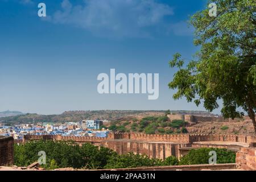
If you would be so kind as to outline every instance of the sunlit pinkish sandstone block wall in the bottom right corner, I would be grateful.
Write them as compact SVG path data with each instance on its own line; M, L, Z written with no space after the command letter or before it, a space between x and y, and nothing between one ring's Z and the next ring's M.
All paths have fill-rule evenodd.
M238 169L256 170L256 148L241 148L236 154Z

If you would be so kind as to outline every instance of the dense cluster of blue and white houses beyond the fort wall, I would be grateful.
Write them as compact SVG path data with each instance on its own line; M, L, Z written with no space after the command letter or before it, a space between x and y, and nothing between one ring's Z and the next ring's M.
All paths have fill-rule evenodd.
M4 126L0 123L0 135L23 139L24 135L63 135L76 137L107 137L109 130L102 128L106 120L82 120L66 123L36 123Z

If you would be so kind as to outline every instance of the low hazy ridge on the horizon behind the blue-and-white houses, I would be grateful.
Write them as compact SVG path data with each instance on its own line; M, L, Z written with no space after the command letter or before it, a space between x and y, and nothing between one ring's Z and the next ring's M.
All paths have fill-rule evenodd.
M82 119L107 119L113 121L118 118L143 118L146 116L163 115L164 110L92 110L92 111L65 111L56 115L23 114L0 118L5 123L32 123L34 122L78 122ZM171 111L174 114L207 114L205 111Z

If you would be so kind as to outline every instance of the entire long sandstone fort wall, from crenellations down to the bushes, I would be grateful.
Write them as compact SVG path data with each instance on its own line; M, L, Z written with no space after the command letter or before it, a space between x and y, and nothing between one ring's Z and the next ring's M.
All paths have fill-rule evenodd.
M82 144L90 142L96 146L111 148L118 154L146 154L150 158L165 159L168 156L181 156L187 154L193 142L222 141L256 143L256 137L246 135L207 135L207 134L173 134L173 135L147 135L143 133L109 133L108 137L63 137L61 135L25 135L24 141L52 139L74 140ZM220 147L220 146L215 146ZM222 146L225 147L225 146ZM180 150L181 149L181 150ZM238 150L240 150L238 148Z

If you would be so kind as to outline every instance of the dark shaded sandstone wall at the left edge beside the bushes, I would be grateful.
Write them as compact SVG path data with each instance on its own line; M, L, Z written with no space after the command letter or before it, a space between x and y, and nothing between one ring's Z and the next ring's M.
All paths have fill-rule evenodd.
M13 137L0 137L0 166L11 166L14 163Z

